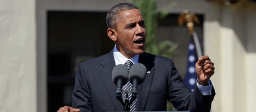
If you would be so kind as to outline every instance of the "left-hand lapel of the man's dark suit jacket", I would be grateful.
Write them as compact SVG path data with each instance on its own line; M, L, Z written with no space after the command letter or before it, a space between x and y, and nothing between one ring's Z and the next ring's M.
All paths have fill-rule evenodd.
M103 69L100 70L100 74L105 85L106 91L108 93L108 96L111 100L111 102L109 103L112 103L114 105L115 111L124 110L123 105L117 100L115 95L117 85L115 85L112 82L112 70L115 66L113 50L107 54L105 59L103 59L103 61L101 62L101 65L103 66Z

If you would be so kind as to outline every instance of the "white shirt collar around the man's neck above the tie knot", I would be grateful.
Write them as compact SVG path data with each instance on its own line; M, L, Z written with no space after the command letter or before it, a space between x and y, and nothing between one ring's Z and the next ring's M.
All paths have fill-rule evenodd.
M139 60L139 54L136 54L134 57L132 57L131 59L126 58L123 54L121 54L117 47L114 47L114 60L115 60L115 65L119 65L119 64L125 64L125 62L127 60L131 60L133 64L137 64L138 60Z

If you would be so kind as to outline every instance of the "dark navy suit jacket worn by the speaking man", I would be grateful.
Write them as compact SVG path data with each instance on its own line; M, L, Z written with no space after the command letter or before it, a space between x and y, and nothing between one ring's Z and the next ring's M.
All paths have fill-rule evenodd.
M179 76L172 60L149 53L139 55L138 63L147 67L144 82L138 86L136 111L166 111L167 100L177 110L210 111L212 95L203 96L197 86L192 92ZM113 50L78 66L72 107L81 111L124 111L112 82L115 66Z

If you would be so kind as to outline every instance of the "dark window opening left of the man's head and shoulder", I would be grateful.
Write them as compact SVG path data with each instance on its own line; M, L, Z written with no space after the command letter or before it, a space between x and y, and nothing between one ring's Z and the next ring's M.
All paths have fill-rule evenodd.
M106 34L106 13L47 12L47 106L71 105L76 66L114 47Z

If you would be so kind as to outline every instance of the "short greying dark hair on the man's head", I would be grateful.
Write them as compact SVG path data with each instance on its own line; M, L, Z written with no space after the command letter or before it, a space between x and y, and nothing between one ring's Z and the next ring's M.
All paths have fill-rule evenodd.
M106 22L107 28L117 28L117 22L119 21L119 13L123 10L138 9L132 3L119 3L114 5L107 13Z

